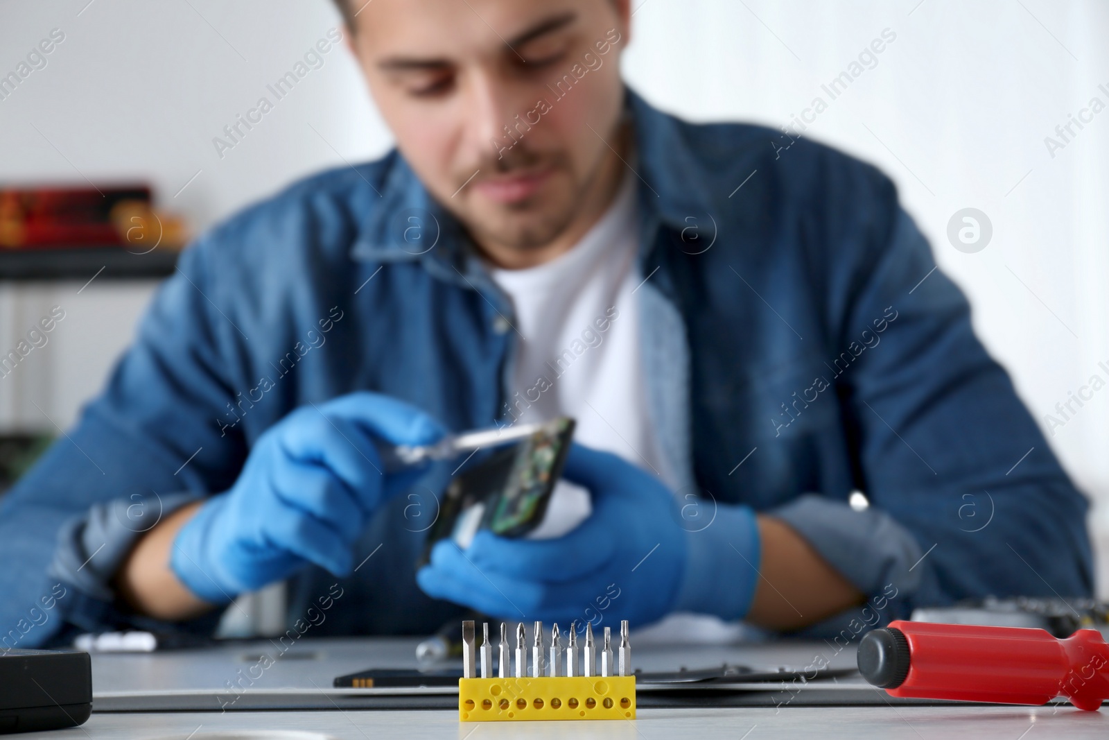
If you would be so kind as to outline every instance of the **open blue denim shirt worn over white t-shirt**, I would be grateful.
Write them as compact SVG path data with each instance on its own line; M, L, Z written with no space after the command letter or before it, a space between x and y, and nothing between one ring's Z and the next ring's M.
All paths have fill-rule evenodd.
M630 91L628 111L649 417L675 495L699 495L706 518L740 503L781 517L875 597L882 621L988 594L1089 595L1087 503L889 180L808 141L782 149L767 129L680 121ZM0 503L4 645L152 625L111 588L134 538L228 488L303 404L374 389L454 429L506 423L506 318L471 242L396 152L212 230L103 394ZM847 506L853 490L868 509ZM435 499L415 496L373 520L355 561L373 557L338 579L314 633L426 633L460 612L416 586L426 519L411 507L430 518ZM298 574L289 621L336 580Z

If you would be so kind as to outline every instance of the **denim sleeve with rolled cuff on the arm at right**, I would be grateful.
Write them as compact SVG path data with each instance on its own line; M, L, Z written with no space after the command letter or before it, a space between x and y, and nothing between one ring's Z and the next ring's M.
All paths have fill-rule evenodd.
M865 594L896 591L891 618L988 595L1089 596L1088 504L888 191L872 219L884 233L831 255L849 266L826 283L826 314L842 318L828 333L849 353L835 392L871 508L804 497L780 516Z

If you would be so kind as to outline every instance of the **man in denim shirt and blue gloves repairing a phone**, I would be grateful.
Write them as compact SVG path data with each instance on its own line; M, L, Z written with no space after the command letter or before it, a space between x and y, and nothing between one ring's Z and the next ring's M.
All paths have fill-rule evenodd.
M1089 595L1086 503L886 178L652 109L619 74L627 0L343 10L397 151L182 255L3 501L2 626L41 625L21 647L210 630L283 579L291 622L342 594L321 635ZM581 445L556 536L417 571L452 466L380 447L557 414Z

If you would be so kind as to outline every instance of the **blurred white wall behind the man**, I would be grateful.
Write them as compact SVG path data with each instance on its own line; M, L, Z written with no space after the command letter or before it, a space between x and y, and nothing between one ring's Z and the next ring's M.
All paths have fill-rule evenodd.
M203 227L299 175L389 145L343 49L222 159L212 145L266 83L338 24L325 0L87 2L0 0L0 73L51 29L65 33L48 67L0 101L0 181L143 178L165 205ZM828 101L821 84L889 29L896 40L877 65L828 101L805 135L875 162L897 181L939 265L970 296L979 334L1041 423L1090 375L1109 379L1098 367L1109 365L1109 110L1054 158L1044 142L1091 98L1109 104L1109 3L633 4L627 79L657 104L696 120L788 123L814 97ZM994 229L974 254L945 235L950 216L968 206L984 211ZM78 304L84 317L65 326L74 336L60 334L44 348L51 367L27 393L43 401L61 394L50 408L55 419L72 419L130 336L149 290L93 283ZM31 298L14 295L0 287L4 343L38 310L17 308ZM13 416L18 408L26 404L0 383L0 424L29 418ZM1099 503L1109 503L1107 440L1109 389L1050 437ZM1093 525L1109 531L1109 515L1099 511Z

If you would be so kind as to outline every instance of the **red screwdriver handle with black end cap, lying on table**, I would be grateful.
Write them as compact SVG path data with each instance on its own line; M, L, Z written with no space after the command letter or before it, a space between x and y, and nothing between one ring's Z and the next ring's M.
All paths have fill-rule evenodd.
M1109 645L1080 629L1065 640L1042 629L893 621L858 646L858 669L894 697L1046 704L1079 709L1109 699Z

